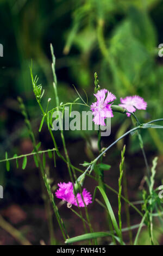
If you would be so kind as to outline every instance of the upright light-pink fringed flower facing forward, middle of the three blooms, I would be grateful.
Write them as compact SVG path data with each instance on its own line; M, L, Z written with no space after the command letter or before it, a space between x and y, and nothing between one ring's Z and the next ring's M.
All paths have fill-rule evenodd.
M106 89L99 90L94 95L97 101L92 103L91 105L91 111L92 111L92 114L94 115L93 121L97 125L105 126L104 119L107 117L114 117L111 110L112 103L111 104L108 104L108 103L111 101L114 101L116 99L116 96L110 93Z

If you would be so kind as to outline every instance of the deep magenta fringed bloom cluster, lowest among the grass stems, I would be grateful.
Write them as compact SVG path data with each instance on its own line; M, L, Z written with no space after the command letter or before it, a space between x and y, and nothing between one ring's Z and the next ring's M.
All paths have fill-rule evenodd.
M79 203L80 207L84 207L84 202L85 202L85 205L92 203L92 196L90 192L87 192L85 188L83 189L83 192L82 192L82 195L84 198L84 202L83 202L83 199L80 193L77 193L76 197L74 196L72 182L68 182L68 183L60 182L58 186L59 186L59 189L55 192L55 196L57 198L60 198L66 201L67 203L73 204L76 206L78 206L78 203ZM77 199L78 199L78 203L77 203Z

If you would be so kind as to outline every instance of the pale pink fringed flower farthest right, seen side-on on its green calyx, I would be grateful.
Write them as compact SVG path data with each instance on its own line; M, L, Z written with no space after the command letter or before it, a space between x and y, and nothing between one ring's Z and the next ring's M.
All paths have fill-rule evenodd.
M126 108L129 112L133 113L137 109L146 109L147 102L143 100L140 96L127 96L124 99L120 99L122 104L119 104L121 107ZM130 117L130 113L126 113Z

